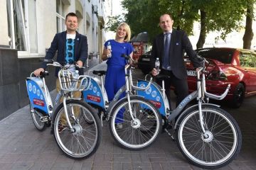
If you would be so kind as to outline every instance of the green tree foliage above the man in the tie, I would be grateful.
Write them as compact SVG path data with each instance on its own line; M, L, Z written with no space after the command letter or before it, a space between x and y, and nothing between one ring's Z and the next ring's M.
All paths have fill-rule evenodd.
M164 13L173 16L174 28L185 30L188 35L193 35L193 23L198 21L201 34L197 47L203 47L210 31L219 31L225 40L228 33L242 27L247 1L254 4L255 0L123 0L122 7L128 11L124 21L132 35L147 32L150 40L161 33L159 16Z

